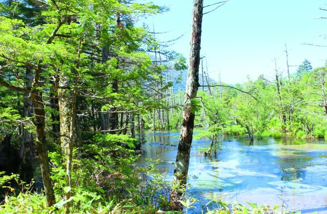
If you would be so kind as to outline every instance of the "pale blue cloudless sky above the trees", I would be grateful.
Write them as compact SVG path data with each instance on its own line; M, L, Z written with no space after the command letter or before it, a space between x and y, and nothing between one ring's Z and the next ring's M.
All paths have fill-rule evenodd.
M138 2L147 2L139 0ZM167 6L169 12L142 20L154 25L159 41L183 35L169 48L189 58L192 0L152 0ZM205 5L219 1L204 0ZM215 7L205 8L204 12ZM308 59L313 67L327 59L327 0L229 0L214 12L205 14L202 23L201 55L206 57L209 76L227 84L243 83L264 74L272 77L274 59L277 68L287 75L285 44L290 71Z

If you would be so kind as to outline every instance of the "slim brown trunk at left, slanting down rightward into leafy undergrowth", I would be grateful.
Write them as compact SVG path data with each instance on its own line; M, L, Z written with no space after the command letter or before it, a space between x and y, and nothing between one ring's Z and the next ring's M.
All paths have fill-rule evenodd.
M35 120L33 121L36 126L36 148L38 151L41 174L43 178L44 192L48 206L52 206L56 203L55 195L52 188L50 178L50 168L48 159L48 150L46 149L45 141L45 111L43 104L42 92L38 90L31 91L31 100L34 105Z

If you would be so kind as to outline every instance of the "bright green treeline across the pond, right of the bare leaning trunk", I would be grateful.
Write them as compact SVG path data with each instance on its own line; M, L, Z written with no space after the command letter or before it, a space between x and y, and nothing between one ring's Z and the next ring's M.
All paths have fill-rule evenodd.
M250 140L327 138L327 65L313 69L305 60L295 73L284 75L275 65L270 77L261 75L244 84L220 84L199 91L200 117L195 125L207 127L214 136L229 133L247 135Z

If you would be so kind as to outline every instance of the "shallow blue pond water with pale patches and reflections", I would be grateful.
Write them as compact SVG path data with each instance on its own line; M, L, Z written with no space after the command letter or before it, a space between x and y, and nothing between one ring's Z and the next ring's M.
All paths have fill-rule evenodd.
M196 134L196 132L195 132ZM179 131L146 132L139 166L146 158L160 159L157 165L171 179ZM200 156L198 149L209 140L192 143L189 193L201 199L214 194L227 201L258 205L279 205L288 211L327 213L327 144L324 141L263 139L250 143L245 138L224 136L221 151L212 157ZM197 202L196 212L208 200ZM249 205L248 205L249 207ZM206 210L206 209L205 209Z

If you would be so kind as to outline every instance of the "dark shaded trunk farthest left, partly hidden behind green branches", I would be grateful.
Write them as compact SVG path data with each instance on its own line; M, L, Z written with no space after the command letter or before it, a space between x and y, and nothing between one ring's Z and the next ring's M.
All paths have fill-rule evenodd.
M30 68L26 68L26 88L31 90L32 83L34 79L33 71ZM33 102L29 98L30 93L24 92L23 98L23 116L24 117L32 117L33 113ZM21 138L21 149L20 149L20 176L26 181L30 182L33 178L33 133L30 132L29 128L22 127L22 138Z

